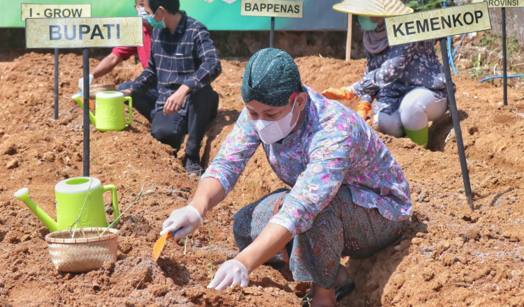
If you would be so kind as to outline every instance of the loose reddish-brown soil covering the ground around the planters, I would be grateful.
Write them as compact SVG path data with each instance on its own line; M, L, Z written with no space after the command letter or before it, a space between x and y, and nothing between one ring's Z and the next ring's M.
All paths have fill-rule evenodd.
M287 283L270 267L256 269L243 290L206 289L210 243L216 271L238 253L231 216L284 186L261 149L233 193L189 237L187 254L183 241L169 240L159 262L152 262L161 223L186 204L196 181L187 177L168 146L154 140L138 112L122 132L91 130L91 174L117 186L121 209L133 202L141 186L151 189L118 226L118 261L86 274L57 272L44 241L48 230L13 193L28 187L30 197L54 218L54 184L82 175L82 112L70 98L77 91L82 59L60 56L60 117L54 121L52 55L11 56L0 56L0 306L299 306L305 287ZM91 68L96 63L92 59ZM303 82L316 90L351 84L365 69L363 60L305 57L297 63ZM205 163L242 109L244 65L222 61L223 73L213 84L221 104L203 144ZM126 61L101 83L132 80L140 70ZM509 89L509 106L504 107L502 89L470 78L455 82L475 210L463 193L455 137L446 142L453 127L447 114L430 128L431 150L383 135L409 179L414 213L397 246L365 260L342 260L356 291L339 306L523 303L523 95ZM356 101L342 103L354 107ZM109 207L110 197L105 197Z

